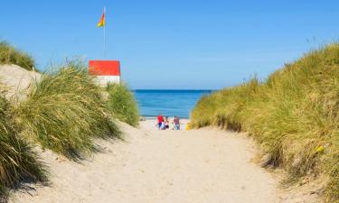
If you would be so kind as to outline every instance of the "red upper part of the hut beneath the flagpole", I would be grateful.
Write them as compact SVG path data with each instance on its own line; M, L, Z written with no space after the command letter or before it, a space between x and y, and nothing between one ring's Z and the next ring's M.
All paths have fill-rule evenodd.
M120 76L120 61L89 60L89 74L94 76Z

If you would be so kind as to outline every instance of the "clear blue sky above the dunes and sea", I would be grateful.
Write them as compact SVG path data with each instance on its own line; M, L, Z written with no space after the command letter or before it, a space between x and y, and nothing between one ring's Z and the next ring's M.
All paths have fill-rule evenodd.
M339 1L2 1L0 39L45 69L66 57L121 60L131 88L222 88L339 34Z

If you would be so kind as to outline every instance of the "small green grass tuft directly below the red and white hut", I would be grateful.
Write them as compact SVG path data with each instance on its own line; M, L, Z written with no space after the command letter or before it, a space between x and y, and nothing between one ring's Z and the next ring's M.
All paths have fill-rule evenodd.
M126 85L108 84L108 109L120 121L137 126L139 114L133 93Z

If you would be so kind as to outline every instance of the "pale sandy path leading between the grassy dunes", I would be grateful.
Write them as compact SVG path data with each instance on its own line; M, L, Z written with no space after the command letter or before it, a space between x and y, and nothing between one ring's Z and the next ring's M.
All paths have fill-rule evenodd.
M250 160L253 143L218 130L157 131L122 125L127 142L99 142L105 152L81 164L42 158L50 187L15 192L15 202L278 202L278 183Z

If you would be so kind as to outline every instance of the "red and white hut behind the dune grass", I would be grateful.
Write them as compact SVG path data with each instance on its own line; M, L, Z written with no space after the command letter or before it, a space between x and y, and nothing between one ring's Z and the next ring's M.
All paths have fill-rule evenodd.
M89 60L89 74L98 78L99 85L120 83L120 61L118 60Z

